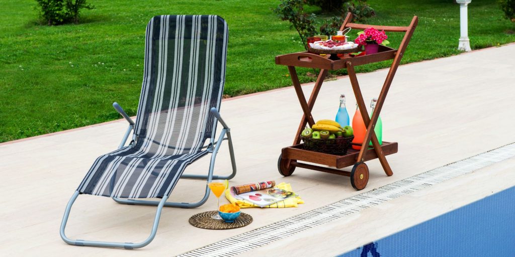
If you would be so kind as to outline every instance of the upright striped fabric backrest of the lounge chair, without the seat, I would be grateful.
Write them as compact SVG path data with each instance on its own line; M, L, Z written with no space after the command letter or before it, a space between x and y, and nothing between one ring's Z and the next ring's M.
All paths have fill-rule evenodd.
M227 23L216 15L161 15L147 25L134 133L139 156L200 151L214 137L225 83Z

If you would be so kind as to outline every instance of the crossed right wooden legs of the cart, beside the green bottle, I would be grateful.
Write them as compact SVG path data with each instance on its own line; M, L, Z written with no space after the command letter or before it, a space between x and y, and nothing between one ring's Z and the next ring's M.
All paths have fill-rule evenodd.
M390 164L388 164L388 161L386 160L386 157L383 153L383 150L381 148L381 145L379 144L379 141L377 140L377 137L374 132L375 123L377 122L376 119L370 120L368 116L367 107L365 105L365 101L363 100L363 95L361 93L361 89L359 88L359 83L356 78L356 72L354 70L354 66L351 62L347 62L347 71L349 72L349 79L352 84L352 89L354 91L354 95L356 96L356 102L359 107L359 111L361 112L361 115L363 117L363 121L365 123L365 126L367 126L367 133L365 134L365 138L363 140L363 144L361 146L361 150L359 151L359 155L357 157L357 162L363 162L364 157L366 156L369 142L372 140L372 146L374 148L375 154L377 155L377 158L379 158L379 161L381 162L381 166L383 166L383 170L385 171L387 176L393 175L393 172L390 168ZM390 82L391 83L391 82ZM389 86L388 86L389 87ZM383 90L381 90L381 94L379 95L382 101L384 101L384 98L386 97L386 92L384 90L385 86L383 86ZM377 100L379 102L379 100ZM374 109L373 116L379 117L379 113L381 112L381 109L376 108ZM373 117L372 117L373 118Z

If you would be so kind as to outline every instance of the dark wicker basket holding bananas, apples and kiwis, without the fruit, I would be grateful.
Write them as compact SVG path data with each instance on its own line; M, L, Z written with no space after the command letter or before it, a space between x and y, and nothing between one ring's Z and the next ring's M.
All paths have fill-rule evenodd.
M334 139L315 139L300 136L300 139L304 142L304 150L345 155L354 136Z

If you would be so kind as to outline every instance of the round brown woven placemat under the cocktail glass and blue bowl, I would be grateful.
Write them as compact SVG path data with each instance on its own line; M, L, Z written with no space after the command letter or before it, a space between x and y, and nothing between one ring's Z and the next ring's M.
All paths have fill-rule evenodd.
M215 213L216 211L197 213L190 217L190 224L197 228L205 229L231 229L245 227L252 222L252 216L243 212L239 214L239 217L233 223L227 223L223 219L211 218L211 215Z

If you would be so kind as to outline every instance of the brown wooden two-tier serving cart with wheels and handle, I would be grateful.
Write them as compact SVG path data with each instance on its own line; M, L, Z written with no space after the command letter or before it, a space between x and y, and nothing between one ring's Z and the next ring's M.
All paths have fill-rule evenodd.
M395 72L399 67L404 51L406 50L409 40L411 39L411 35L413 35L413 32L415 31L415 28L418 23L418 17L414 16L413 20L411 20L411 23L407 27L376 26L349 23L351 17L352 14L349 13L344 23L341 25L340 30L344 30L345 28L366 29L369 27L373 27L378 30L385 30L390 32L404 32L404 38L402 39L399 49L393 49L390 47L380 45L379 51L377 53L341 59L336 58L336 54L334 54L334 56L331 56L330 58L327 58L307 51L277 56L276 64L288 66L289 74L291 80L293 81L297 97L299 98L300 106L302 107L302 111L304 112L293 145L282 149L281 155L279 156L278 169L279 173L281 173L283 176L291 175L296 167L348 176L351 179L352 187L356 190L362 190L367 186L368 183L369 171L367 164L365 164L365 161L367 160L379 158L386 175L393 175L393 172L385 156L397 153L397 142L383 141L383 143L380 145L379 141L377 141L375 133L372 132L374 131L377 118L381 113L381 108L383 107L386 94L388 93L388 89L390 88L391 82L393 80L393 76L395 75ZM383 84L383 88L381 89L381 93L377 98L377 103L375 105L374 112L372 113L372 116L369 118L369 114L365 106L365 102L363 100L363 95L361 93L361 89L359 88L359 84L356 78L354 66L381 62L390 59L393 59L393 63L390 66L390 70L388 71L388 75L386 76L386 80ZM295 67L320 69L320 73L318 75L317 81L308 101L306 101L306 98L302 92L302 88L300 86L299 78L297 77L297 71ZM328 70L337 70L345 68L348 71L349 79L352 84L352 89L354 91L354 95L356 96L357 105L359 107L359 110L361 111L361 115L363 116L365 126L367 127L367 132L365 134L363 144L361 144L361 150L354 150L350 148L346 155L333 155L304 150L303 145L300 143L300 135L302 133L302 130L306 126L306 123L310 124L310 126L313 126L313 124L315 124L311 111L317 99L323 80L325 76L328 74ZM373 147L369 149L370 140L372 141ZM317 166L306 162L335 167L336 169ZM338 170L349 166L353 166L351 172Z

